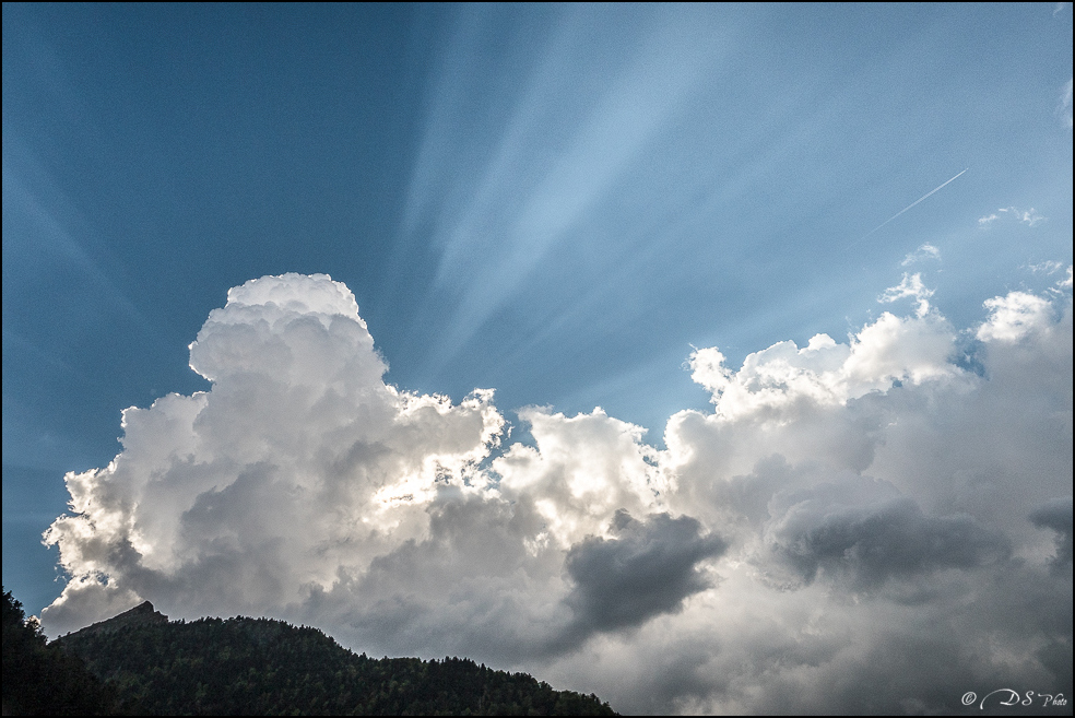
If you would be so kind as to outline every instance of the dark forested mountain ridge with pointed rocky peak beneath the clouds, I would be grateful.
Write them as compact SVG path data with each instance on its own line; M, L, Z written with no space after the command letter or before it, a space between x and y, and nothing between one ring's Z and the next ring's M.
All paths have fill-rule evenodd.
M4 711L52 713L9 702L8 597ZM21 608L17 623L26 626ZM149 602L39 644L96 681L104 692L97 713L616 715L593 694L555 691L525 673L469 659L374 659L314 627L248 617L169 622Z

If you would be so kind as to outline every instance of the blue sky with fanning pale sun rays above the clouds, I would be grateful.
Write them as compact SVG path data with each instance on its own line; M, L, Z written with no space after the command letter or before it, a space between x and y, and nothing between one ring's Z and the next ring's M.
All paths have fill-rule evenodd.
M601 407L664 450L696 349L847 342L905 273L972 334L1072 262L1071 78L1070 4L5 3L4 586L59 596L63 474L209 389L188 345L263 275L530 444Z

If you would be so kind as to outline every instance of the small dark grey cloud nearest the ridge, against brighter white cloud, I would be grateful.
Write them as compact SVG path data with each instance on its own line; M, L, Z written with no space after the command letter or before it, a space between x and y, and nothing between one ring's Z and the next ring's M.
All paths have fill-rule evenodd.
M651 514L645 520L616 511L615 539L590 537L571 546L565 567L575 588L565 602L575 611L572 631L637 626L680 609L710 582L696 566L724 553L728 544L704 533L689 516Z

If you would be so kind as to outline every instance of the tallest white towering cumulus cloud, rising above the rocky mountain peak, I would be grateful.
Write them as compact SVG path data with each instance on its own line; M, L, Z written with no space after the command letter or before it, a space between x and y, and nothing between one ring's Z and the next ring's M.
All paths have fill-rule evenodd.
M58 626L135 595L193 613L302 602L425 537L437 486L477 492L504 424L491 392L452 407L387 386L354 296L326 275L233 289L190 365L211 391L128 409L116 460L68 476L78 516L49 531L74 577Z

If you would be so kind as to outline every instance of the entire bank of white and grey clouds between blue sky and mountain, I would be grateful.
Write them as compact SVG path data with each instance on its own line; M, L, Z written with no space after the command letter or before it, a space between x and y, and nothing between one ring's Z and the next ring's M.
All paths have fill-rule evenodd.
M957 330L921 276L846 343L690 357L711 411L665 446L600 409L385 384L351 292L228 293L212 382L123 413L46 534L61 633L151 599L267 614L371 654L466 655L624 711L950 713L1072 693L1072 299L987 298Z

